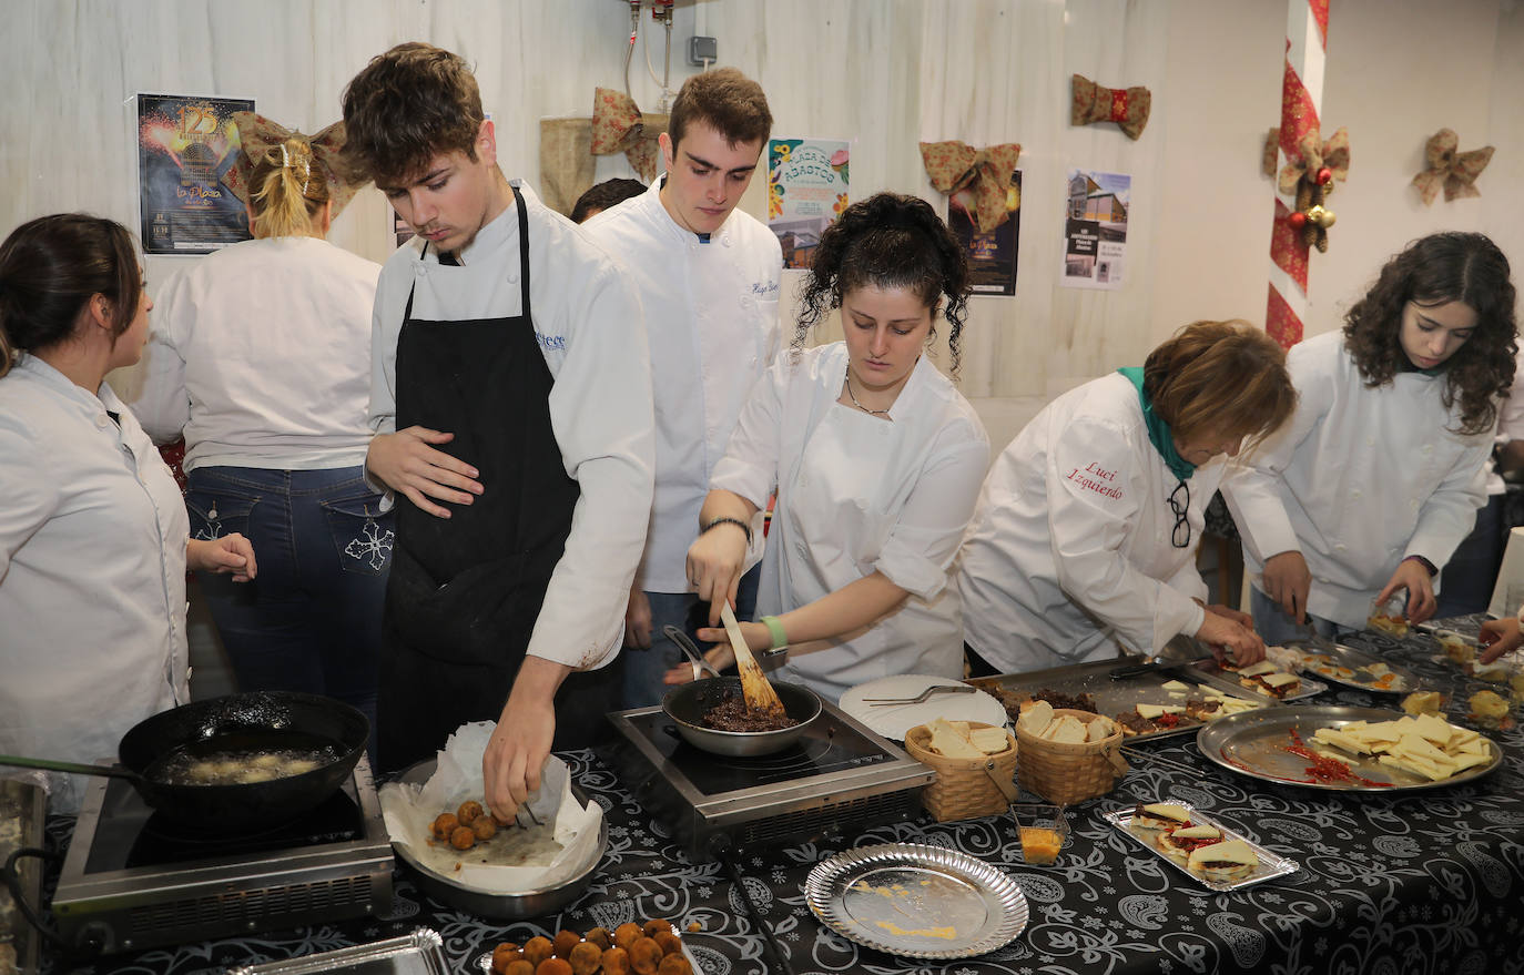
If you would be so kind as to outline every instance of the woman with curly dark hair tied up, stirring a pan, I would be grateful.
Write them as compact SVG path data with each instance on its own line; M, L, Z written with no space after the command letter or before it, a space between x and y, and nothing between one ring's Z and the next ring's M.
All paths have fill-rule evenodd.
M710 477L689 577L712 600L713 628L762 555L762 622L741 631L754 651L788 646L785 676L832 699L892 673L962 676L948 567L989 440L925 352L940 315L957 372L963 250L924 200L878 193L821 235L802 300L792 352L757 382ZM805 349L834 309L844 341ZM712 663L730 660L728 646L710 651ZM668 682L690 676L680 667Z

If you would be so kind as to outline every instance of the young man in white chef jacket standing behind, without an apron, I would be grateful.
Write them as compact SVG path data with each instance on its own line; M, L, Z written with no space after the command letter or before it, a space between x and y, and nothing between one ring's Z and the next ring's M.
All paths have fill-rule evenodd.
M735 69L689 78L661 134L666 174L587 230L636 279L651 338L655 501L625 631L625 707L658 704L681 654L661 634L693 634L684 571L709 475L753 384L777 355L777 236L736 209L773 128L762 87ZM741 615L756 577L738 597Z

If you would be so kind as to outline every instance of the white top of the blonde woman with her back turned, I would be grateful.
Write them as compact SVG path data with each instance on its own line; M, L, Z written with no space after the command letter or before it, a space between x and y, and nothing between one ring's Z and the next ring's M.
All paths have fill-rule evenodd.
M379 274L305 236L201 257L154 302L139 422L160 443L184 433L186 471L360 466Z

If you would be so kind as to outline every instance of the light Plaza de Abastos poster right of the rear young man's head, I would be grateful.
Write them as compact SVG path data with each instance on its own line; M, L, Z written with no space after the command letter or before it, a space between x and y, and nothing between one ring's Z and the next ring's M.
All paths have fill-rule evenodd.
M808 268L820 235L847 209L847 142L770 139L767 222L783 247L785 268Z

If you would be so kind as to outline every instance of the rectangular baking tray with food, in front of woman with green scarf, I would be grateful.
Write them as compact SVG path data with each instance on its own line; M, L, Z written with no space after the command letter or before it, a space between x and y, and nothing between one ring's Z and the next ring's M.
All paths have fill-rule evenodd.
M1268 698L1251 699L1215 681L1195 679L1183 664L1138 664L1137 660L1096 660L1027 673L972 678L968 682L994 695L1012 724L1021 705L1047 701L1055 708L1094 711L1122 725L1129 743L1195 734L1222 714L1279 707Z

